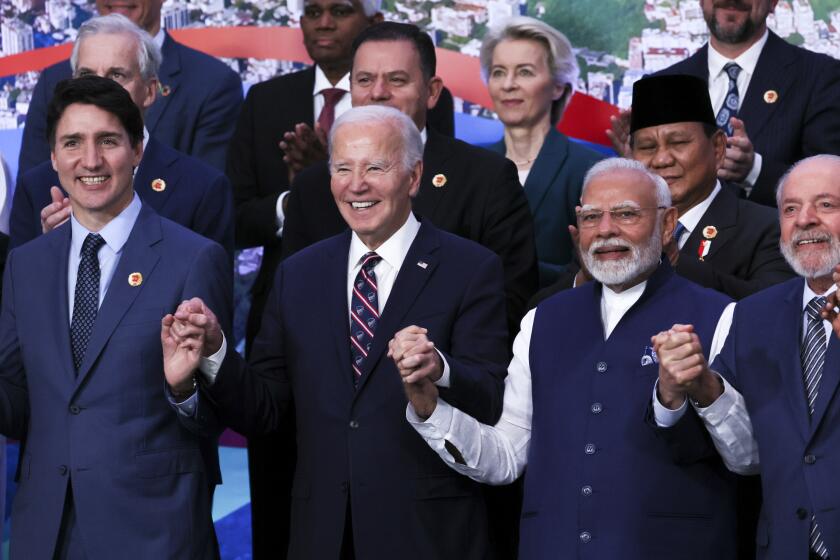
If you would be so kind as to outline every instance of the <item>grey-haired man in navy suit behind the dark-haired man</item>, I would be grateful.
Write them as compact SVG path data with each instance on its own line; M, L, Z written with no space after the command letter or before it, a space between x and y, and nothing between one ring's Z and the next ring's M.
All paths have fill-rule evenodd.
M111 78L128 90L142 113L154 106L160 49L148 33L121 15L86 21L71 57L75 76ZM221 244L233 253L230 182L220 171L149 137L134 188L158 214ZM17 247L69 217L69 199L51 162L19 176L10 218L11 246Z

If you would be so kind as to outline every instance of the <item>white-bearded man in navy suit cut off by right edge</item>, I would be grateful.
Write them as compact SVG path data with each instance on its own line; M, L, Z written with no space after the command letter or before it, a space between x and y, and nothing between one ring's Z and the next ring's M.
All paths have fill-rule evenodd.
M780 246L801 278L739 301L726 321L731 326L720 329L728 337L711 368L703 355L708 346L691 325L674 325L654 338L657 423L668 425L694 408L714 448L704 443L706 430L682 431L686 450L714 454L716 448L731 470L761 474L756 540L762 560L840 554L838 176L840 157L819 155L782 178ZM672 412L663 414L663 406Z

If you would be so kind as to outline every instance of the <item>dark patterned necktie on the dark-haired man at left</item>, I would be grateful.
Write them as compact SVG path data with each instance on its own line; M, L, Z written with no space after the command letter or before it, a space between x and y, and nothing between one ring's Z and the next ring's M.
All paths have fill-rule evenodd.
M89 233L82 243L82 258L76 276L76 295L73 299L73 319L70 321L70 343L73 346L73 366L76 371L85 357L93 323L99 310L99 248L105 240L98 233Z

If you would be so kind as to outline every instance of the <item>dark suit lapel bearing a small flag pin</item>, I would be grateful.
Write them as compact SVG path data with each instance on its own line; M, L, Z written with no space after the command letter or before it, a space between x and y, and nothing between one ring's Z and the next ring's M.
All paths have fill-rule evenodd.
M385 309L382 310L379 325L376 327L373 346L370 347L370 352L368 352L367 358L365 358L362 378L359 381L359 388L356 391L357 395L361 393L368 379L376 371L376 365L385 354L388 342L397 332L397 329L400 328L405 314L411 309L411 306L414 304L417 296L420 295L426 282L434 274L438 264L435 252L439 245L440 240L438 239L437 231L431 229L427 224L421 223L417 237L411 244L408 254L406 254L405 260L400 268L400 272L397 274L397 279L394 281L394 287L391 289L388 303L385 305ZM420 264L421 262L425 266L422 266ZM347 355L348 361L346 363L349 368L349 350Z

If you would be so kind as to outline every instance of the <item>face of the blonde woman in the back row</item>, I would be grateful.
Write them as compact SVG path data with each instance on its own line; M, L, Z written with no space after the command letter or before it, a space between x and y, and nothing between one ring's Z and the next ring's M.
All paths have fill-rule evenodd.
M548 50L530 39L505 39L496 45L487 89L507 127L550 124L551 105L564 91L554 83Z

